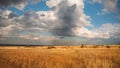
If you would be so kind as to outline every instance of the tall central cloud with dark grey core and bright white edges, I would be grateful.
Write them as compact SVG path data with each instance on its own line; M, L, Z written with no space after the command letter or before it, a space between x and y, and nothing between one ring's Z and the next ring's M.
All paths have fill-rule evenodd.
M75 36L75 28L81 28L81 26L92 26L89 20L90 17L84 14L83 0L61 0L61 2L59 2L59 5L54 7L57 7L57 9L54 10L55 16L57 17L57 19L54 21L56 22L55 27L52 30L52 33L54 35Z

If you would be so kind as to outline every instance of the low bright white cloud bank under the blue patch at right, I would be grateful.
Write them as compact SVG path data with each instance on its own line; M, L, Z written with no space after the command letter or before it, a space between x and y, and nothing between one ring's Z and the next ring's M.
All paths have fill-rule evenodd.
M87 28L81 27L76 28L74 31L76 32L76 36L86 37L86 38L120 38L120 24L111 24L105 23L99 28L94 28L92 30L88 30Z

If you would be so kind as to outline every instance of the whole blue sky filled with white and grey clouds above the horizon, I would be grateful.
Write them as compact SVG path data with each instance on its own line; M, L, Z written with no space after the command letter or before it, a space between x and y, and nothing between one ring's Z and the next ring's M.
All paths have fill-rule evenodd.
M120 43L120 0L0 0L0 44Z

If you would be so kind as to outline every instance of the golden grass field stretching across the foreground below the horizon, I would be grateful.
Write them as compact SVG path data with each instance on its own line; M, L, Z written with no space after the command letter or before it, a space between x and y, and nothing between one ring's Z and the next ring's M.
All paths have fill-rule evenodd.
M120 68L120 46L1 46L0 68Z

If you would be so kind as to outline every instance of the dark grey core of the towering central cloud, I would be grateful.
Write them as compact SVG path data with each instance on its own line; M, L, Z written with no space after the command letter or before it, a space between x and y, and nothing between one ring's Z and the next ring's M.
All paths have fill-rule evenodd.
M59 22L53 29L53 34L58 36L72 36L73 29L77 27L79 22L79 13L76 11L76 4L68 6L67 1L59 4L59 10L56 13Z

